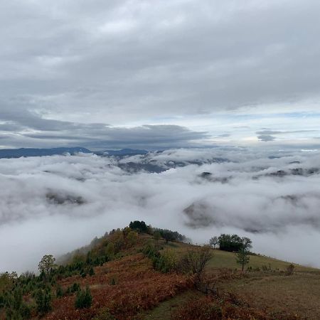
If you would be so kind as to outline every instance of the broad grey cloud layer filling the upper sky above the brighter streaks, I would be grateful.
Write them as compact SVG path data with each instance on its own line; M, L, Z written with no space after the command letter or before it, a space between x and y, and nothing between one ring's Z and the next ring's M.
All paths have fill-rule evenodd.
M50 131L68 125L54 119L147 124L317 101L319 9L316 0L3 3L0 120Z

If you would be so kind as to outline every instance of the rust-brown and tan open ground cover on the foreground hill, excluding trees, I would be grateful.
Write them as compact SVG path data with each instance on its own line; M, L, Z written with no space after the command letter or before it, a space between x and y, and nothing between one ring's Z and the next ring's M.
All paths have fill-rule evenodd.
M251 255L250 270L240 271L235 253L212 250L203 283L214 290L199 291L194 277L154 270L142 247L154 242L150 235L139 235L134 246L122 256L94 268L94 274L60 277L58 285L66 294L56 298L53 309L42 319L50 320L298 320L320 319L320 270L294 265L263 255ZM164 240L157 242L177 260L196 246ZM164 253L163 251L163 253ZM76 309L76 294L67 292L73 284L90 288L92 306ZM198 288L198 289L197 289ZM34 299L24 297L30 304ZM2 309L0 319L6 319ZM33 311L33 318L36 313Z

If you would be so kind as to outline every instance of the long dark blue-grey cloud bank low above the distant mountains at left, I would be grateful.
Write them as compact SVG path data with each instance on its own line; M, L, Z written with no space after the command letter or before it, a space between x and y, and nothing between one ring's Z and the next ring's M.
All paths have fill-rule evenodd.
M11 107L0 111L0 137L3 146L46 147L81 145L89 149L138 147L161 149L201 144L207 132L192 131L174 124L114 127L102 123L83 124L43 119L38 114Z

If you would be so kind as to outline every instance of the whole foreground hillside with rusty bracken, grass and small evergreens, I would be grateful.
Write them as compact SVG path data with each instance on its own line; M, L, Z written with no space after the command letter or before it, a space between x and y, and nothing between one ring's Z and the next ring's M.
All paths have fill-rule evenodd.
M112 230L48 273L2 274L0 319L320 318L320 270L294 265L287 275L288 262L250 255L242 273L234 252L172 235L181 236ZM193 272L193 262L204 256L203 272Z

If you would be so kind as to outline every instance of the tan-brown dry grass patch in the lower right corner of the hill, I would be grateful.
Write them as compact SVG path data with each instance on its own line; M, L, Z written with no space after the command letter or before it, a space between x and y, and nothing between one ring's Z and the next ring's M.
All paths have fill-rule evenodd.
M268 313L284 311L303 319L320 319L319 272L295 272L292 276L255 272L223 280L218 287Z

